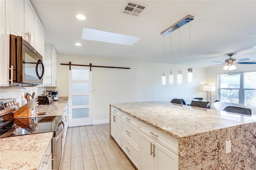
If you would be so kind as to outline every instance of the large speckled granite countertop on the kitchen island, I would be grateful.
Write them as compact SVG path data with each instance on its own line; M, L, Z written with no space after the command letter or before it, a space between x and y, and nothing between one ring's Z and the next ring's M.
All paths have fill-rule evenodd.
M163 101L110 104L175 138L256 122L256 115L240 115Z

